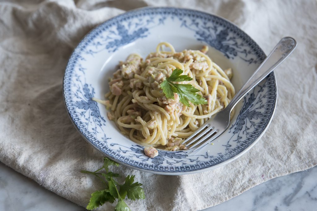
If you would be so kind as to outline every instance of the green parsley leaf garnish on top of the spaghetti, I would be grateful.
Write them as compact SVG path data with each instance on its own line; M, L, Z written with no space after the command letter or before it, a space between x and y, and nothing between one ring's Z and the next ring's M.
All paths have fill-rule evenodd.
M171 76L161 83L161 88L163 89L165 96L167 98L174 99L174 93L177 93L179 101L187 106L189 106L188 101L191 101L194 105L207 104L207 100L203 96L197 94L199 90L193 85L173 83L193 80L188 75L180 75L182 73L183 70L176 68L172 72Z

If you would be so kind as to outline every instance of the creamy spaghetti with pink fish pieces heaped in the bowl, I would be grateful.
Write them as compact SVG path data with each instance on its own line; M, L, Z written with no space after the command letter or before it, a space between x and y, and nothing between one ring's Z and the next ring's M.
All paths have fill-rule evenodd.
M171 44L162 42L145 60L131 54L109 80L108 100L94 100L107 106L108 118L134 142L172 151L186 149L184 139L226 107L235 94L231 69L222 70L207 51L204 46L200 51L176 52ZM174 69L182 69L182 75L193 78L176 83L197 88L207 104L186 106L177 93L174 99L166 98L160 84Z

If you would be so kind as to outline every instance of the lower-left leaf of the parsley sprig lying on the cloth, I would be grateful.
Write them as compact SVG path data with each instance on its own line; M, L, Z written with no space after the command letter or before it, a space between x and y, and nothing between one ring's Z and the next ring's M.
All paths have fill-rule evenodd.
M94 208L103 205L105 202L113 203L114 200L115 198L110 195L109 190L98 190L91 194L91 198L86 209L93 210Z

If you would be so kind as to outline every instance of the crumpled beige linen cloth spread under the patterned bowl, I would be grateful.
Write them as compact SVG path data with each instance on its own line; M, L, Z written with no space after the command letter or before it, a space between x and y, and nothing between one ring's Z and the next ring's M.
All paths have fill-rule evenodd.
M62 97L68 57L93 27L126 10L176 6L220 15L241 27L268 53L284 36L298 47L275 70L278 102L260 141L217 169L164 176L124 166L146 199L132 210L199 210L271 178L317 165L317 3L311 1L2 1L0 3L0 161L81 206L101 184L104 156L72 125ZM106 203L100 210L112 210Z

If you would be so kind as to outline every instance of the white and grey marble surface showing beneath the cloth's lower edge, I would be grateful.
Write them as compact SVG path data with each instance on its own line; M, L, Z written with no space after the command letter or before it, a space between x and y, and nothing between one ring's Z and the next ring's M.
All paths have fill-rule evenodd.
M316 210L317 166L262 183L204 211ZM0 163L0 210L85 210Z

